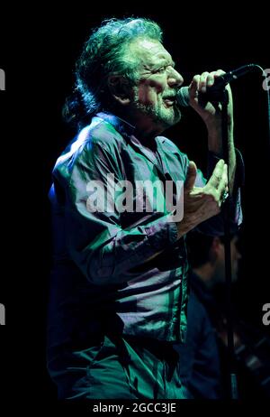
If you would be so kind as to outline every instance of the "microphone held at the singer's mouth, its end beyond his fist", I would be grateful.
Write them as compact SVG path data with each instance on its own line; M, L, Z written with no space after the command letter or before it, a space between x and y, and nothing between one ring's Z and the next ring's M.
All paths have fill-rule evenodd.
M202 102L206 103L207 101L211 101L211 94L215 93L216 91L220 90L220 88L224 88L230 81L234 79L238 79L243 75L247 74L252 70L257 69L257 64L247 64L242 67L239 67L237 70L232 70L226 72L226 74L221 75L218 79L215 79L214 84L211 87L206 88L206 92L199 93L199 100L201 99ZM189 106L189 90L188 87L179 88L176 93L176 101L179 106L188 107Z

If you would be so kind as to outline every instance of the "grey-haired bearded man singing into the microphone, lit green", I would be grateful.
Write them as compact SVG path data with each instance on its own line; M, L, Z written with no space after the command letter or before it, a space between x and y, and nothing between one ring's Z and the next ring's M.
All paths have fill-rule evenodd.
M85 42L64 112L77 134L56 162L49 192L54 264L48 369L59 399L189 397L174 348L186 333L185 236L193 228L222 234L228 192L233 221L241 218L242 165L233 142L229 86L229 180L221 159L220 109L210 102L201 107L197 98L223 73L195 75L189 88L190 106L208 131L205 179L163 135L181 120L175 97L184 79L157 23L106 20ZM183 218L175 221L173 212L157 210L155 196L151 209L122 209L130 196L124 190L112 195L108 174L133 185L184 181ZM106 190L103 211L87 206L93 181ZM121 209L116 197L122 198Z

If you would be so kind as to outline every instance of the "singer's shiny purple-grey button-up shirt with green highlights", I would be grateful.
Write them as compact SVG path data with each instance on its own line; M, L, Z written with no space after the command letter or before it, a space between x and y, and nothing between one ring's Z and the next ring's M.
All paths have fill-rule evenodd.
M151 212L145 207L140 211L115 208L108 182L108 174L113 174L114 183L184 181L187 156L164 136L153 140L156 152L135 137L133 126L100 113L58 158L50 190L55 243L50 347L84 341L103 328L171 342L184 340L185 239L177 240L171 213L158 211L155 198ZM210 154L210 166L216 162ZM89 209L94 195L91 181L103 184L107 191L106 209ZM205 182L198 171L195 185ZM204 222L204 231L208 228L215 228L212 220Z

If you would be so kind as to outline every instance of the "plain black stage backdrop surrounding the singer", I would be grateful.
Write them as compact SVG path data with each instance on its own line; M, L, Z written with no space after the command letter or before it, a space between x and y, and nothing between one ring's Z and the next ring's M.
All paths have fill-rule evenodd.
M0 92L4 105L0 126L4 209L0 302L6 308L6 325L0 329L3 396L26 393L26 401L55 398L45 357L50 268L47 193L54 162L72 138L62 123L61 107L71 92L74 63L91 28L112 16L133 14L156 20L185 84L203 70L228 71L252 62L270 68L263 7L239 14L222 14L217 5L206 4L183 10L177 5L179 11L173 3L153 6L151 11L139 5L118 9L100 5L94 11L91 4L78 3L56 9L41 3L14 6L1 16L7 23L1 28L0 55L0 68L6 70L6 91ZM267 332L270 326L262 323L263 305L270 302L266 93L257 74L231 87L235 141L246 162L243 258L235 305L245 320ZM206 134L198 116L185 109L183 122L166 135L205 170ZM17 377L20 387L14 386Z

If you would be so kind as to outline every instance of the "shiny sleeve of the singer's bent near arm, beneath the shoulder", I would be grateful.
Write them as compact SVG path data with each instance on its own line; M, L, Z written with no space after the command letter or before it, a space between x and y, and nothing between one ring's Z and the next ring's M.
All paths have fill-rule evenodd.
M121 227L121 213L115 208L112 174L121 180L120 163L103 144L94 143L72 162L65 213L67 250L92 283L122 283L136 273L130 270L174 244L177 228L170 214L157 218L148 214L139 224ZM93 182L94 181L94 182ZM94 188L93 186L96 186ZM93 209L93 196L105 195ZM104 193L103 193L104 191ZM161 217L160 217L161 216Z

